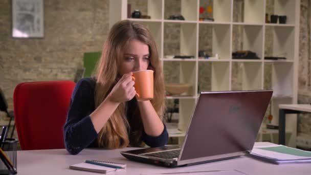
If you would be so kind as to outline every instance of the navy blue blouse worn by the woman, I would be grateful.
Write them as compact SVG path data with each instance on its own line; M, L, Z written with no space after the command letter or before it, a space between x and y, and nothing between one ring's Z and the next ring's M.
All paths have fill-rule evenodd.
M83 78L77 82L71 97L63 132L65 147L72 155L86 147L98 147L97 132L90 118L95 111L95 85L92 78ZM128 116L127 119L130 120ZM129 121L130 126L131 123ZM157 137L149 136L143 130L141 139L150 147L164 146L168 140L166 126Z

